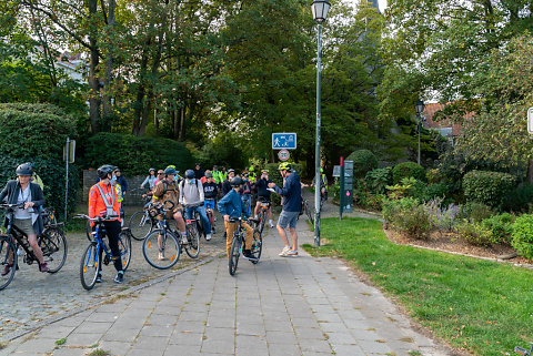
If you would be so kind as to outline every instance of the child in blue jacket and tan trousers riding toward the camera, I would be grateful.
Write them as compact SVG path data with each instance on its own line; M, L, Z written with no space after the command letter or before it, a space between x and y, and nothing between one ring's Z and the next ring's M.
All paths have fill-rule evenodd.
M231 180L231 192L224 195L219 202L219 212L224 216L224 227L225 227L225 251L228 254L228 258L230 258L231 252L231 243L233 242L233 233L237 230L238 223L230 223L231 217L240 217L244 215L245 217L250 217L248 215L248 211L244 207L244 204L241 200L241 186L242 186L242 179L235 176ZM247 237L244 243L244 252L243 255L247 258L253 258L252 256L252 243L253 243L253 228L245 222L241 222L242 227L247 231Z

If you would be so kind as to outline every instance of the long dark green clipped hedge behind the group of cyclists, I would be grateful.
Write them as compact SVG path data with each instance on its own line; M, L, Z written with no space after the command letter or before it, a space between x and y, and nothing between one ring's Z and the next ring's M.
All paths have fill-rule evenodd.
M113 164L119 166L124 175L145 175L150 166L164 169L174 164L181 172L193 169L194 159L191 152L177 141L101 132L88 140L84 163L90 167Z

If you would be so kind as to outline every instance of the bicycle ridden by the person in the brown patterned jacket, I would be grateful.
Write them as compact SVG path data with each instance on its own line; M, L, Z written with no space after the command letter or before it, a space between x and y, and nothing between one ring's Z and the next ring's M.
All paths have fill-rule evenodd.
M152 230L142 244L144 260L158 269L168 269L175 265L181 253L181 244L175 236L175 232L170 228L165 214L175 205L171 201L165 201L163 205L167 203L172 204L172 206L170 208L164 208L163 206L155 207L158 214L163 214L164 218L157 222L158 228Z

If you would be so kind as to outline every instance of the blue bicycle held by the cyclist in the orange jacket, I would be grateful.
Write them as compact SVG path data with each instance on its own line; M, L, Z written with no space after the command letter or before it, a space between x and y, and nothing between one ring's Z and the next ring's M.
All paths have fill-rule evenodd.
M108 265L111 261L114 261L115 257L111 254L111 248L109 243L104 242L103 237L105 236L105 230L102 226L104 221L110 218L115 218L117 215L108 216L95 216L90 217L86 214L74 215L74 218L87 218L89 222L94 222L94 231L91 233L91 242L86 247L80 261L80 281L84 289L90 291L97 284L98 274L101 271L100 255L103 256L103 264ZM122 227L122 231L119 234L119 251L120 257L122 258L122 271L127 271L131 261L131 234L128 227Z

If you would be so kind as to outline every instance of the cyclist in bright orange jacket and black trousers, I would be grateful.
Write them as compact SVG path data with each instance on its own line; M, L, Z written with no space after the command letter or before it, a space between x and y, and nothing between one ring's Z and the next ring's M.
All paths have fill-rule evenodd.
M98 177L100 182L91 186L89 191L89 216L91 218L95 216L117 216L105 218L103 221L103 226L105 227L105 234L109 240L109 247L111 248L111 254L114 263L114 268L117 269L117 276L114 282L122 283L124 278L124 271L122 269L122 258L120 256L119 250L119 234L121 231L121 217L120 217L120 203L117 196L117 190L113 187L112 181L117 181L117 175L113 172L117 171L117 167L105 164L100 166L97 170ZM94 226L94 222L91 221L91 226ZM98 256L98 275L97 283L102 282L102 253Z

